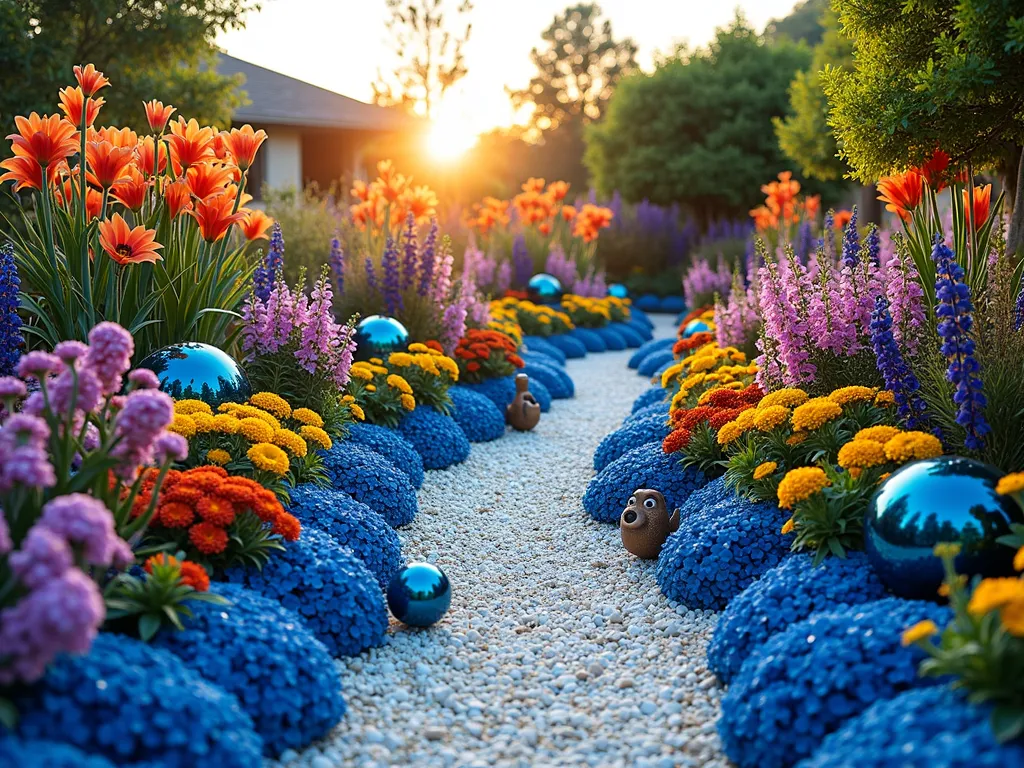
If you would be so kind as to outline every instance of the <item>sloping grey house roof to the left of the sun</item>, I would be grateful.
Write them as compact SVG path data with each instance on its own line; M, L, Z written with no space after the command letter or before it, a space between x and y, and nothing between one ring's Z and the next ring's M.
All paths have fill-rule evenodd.
M246 78L243 88L250 103L234 111L236 122L369 131L397 131L414 123L398 110L368 104L226 53L218 54L217 72Z

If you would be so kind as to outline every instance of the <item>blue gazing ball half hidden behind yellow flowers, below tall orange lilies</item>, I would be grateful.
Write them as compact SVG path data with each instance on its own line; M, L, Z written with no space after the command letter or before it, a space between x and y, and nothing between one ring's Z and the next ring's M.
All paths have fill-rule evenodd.
M245 402L252 395L249 378L233 357L210 344L189 341L158 349L138 364L160 379L160 388L176 400Z

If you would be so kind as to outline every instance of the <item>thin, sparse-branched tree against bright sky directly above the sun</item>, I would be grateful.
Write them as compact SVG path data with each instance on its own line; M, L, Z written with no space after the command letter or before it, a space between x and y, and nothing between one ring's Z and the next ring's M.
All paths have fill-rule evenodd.
M469 40L473 25L456 35L447 29L442 0L420 0L408 4L402 0L387 0L391 33L398 66L390 79L378 73L373 84L374 102L382 106L400 105L433 117L441 96L469 72L462 47ZM473 10L470 0L462 0L455 8L458 18Z

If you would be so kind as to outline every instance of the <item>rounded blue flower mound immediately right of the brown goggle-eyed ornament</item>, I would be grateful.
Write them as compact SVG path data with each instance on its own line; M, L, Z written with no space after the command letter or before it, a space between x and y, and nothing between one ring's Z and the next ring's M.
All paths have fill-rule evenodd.
M721 610L790 551L780 532L788 517L736 496L680 515L657 558L658 586L689 608Z

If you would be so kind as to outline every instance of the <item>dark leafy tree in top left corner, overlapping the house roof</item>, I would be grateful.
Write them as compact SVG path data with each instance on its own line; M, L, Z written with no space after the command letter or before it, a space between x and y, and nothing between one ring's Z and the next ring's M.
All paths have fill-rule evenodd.
M241 79L214 70L213 41L244 26L254 0L4 0L0 2L0 125L56 112L72 68L94 63L116 88L103 93L104 124L145 127L142 101L226 127L243 101ZM5 131L6 132L6 131Z

